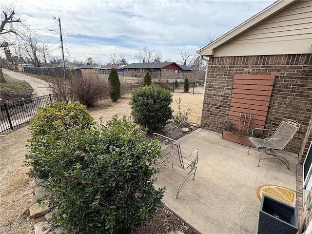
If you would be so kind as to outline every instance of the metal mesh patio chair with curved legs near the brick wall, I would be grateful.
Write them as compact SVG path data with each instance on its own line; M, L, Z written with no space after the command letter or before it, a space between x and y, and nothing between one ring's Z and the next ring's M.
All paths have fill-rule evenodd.
M267 137L264 139L253 137L254 130L257 129L267 131L270 129L254 128L252 136L248 138L249 148L247 154L249 155L250 146L252 145L260 152L258 166L260 160L272 158L284 162L288 170L290 170L289 162L287 161L287 159L283 156L277 155L276 150L285 149L285 147L291 141L292 137L295 135L299 128L299 123L292 119L284 118L277 128L272 129L272 131L275 131L272 137ZM263 150L264 153L261 153L260 150ZM267 155L267 157L261 158L261 156L263 155Z

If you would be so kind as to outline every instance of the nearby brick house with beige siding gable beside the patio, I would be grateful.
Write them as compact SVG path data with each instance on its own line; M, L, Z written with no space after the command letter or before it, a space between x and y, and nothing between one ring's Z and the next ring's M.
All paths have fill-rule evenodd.
M221 133L223 121L259 111L260 102L254 100L264 97L256 94L267 82L263 76L273 81L272 93L264 97L269 105L265 128L277 127L283 118L301 124L286 148L298 154L298 234L312 233L312 212L307 208L312 203L311 45L312 0L277 0L197 51L207 61L201 128Z

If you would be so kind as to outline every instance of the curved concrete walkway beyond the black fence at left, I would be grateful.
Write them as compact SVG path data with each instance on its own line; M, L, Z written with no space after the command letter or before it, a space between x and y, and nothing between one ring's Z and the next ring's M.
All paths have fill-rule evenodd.
M29 85L36 91L35 95L33 97L40 97L44 95L49 95L51 94L51 89L50 85L48 82L45 82L42 79L34 78L31 76L27 76L23 73L18 73L18 72L13 72L11 70L3 69L2 72L5 73L6 75L16 78L19 80L25 80Z

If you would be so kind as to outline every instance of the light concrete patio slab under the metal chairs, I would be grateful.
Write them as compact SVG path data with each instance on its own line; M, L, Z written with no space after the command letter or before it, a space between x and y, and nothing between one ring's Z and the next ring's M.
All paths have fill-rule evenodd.
M274 184L296 189L297 156L283 152L290 163L261 160L256 149L221 138L221 134L198 129L180 139L181 150L199 149L195 181L189 178L178 199L181 176L163 168L156 187L166 186L163 202L202 234L254 234L257 232L260 201L257 188ZM185 173L185 172L184 172Z

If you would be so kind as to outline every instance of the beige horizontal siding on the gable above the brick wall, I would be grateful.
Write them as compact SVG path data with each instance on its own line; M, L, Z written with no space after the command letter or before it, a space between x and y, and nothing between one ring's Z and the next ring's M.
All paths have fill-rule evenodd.
M312 0L298 1L215 50L215 57L312 53Z

